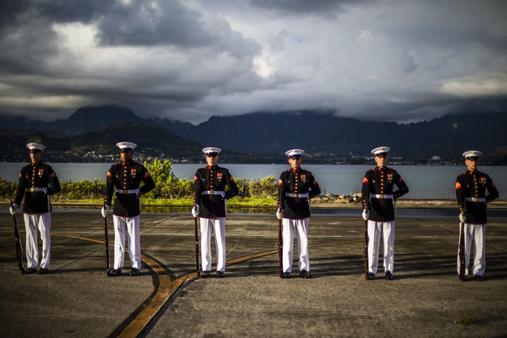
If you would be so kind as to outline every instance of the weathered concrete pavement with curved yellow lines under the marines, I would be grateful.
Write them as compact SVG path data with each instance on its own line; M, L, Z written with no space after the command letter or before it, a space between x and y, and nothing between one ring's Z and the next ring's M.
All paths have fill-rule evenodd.
M141 276L128 276L127 255L127 274L108 278L98 209L54 208L50 274L21 275L2 208L2 336L507 335L507 219L489 220L483 282L457 277L457 219L416 216L396 220L394 280L380 261L377 280L367 281L359 214L312 216L313 278L282 280L274 216L229 214L225 278L196 279L190 213L143 213ZM454 323L464 315L473 323Z

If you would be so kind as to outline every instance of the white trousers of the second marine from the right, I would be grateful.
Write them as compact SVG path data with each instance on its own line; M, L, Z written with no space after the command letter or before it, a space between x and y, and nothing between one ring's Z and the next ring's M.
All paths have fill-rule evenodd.
M377 274L379 265L380 234L384 247L384 271L394 274L394 221L377 222L368 220L368 271Z

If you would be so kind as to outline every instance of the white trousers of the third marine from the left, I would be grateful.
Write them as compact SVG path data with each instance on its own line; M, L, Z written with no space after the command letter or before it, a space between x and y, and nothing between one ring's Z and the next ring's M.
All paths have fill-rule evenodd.
M216 271L225 271L225 217L200 218L202 271L211 269L211 228L215 234Z

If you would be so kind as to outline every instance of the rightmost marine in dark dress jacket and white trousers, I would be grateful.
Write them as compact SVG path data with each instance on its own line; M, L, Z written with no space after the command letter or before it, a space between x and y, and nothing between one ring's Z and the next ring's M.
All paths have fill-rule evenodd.
M464 223L465 234L465 280L468 279L468 264L470 263L470 249L472 249L473 238L473 274L476 281L482 281L482 275L486 270L485 240L486 223L488 221L486 208L489 202L496 200L499 196L498 190L489 175L477 170L477 163L481 156L482 153L478 151L463 153L466 171L456 178L459 219ZM489 193L488 195L486 195L486 190ZM459 263L460 257L458 254L458 274Z

